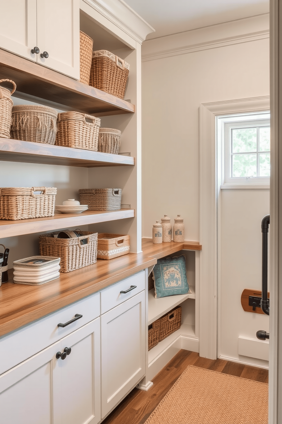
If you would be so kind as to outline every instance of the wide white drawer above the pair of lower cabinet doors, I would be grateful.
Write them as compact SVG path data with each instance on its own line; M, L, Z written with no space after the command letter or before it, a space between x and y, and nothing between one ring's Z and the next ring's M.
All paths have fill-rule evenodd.
M75 318L81 318L66 325ZM100 293L72 303L0 338L0 374L60 340L100 315Z

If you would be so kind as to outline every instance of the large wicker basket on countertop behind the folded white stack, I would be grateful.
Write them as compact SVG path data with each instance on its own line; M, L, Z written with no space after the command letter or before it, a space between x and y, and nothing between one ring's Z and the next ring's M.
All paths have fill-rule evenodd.
M61 258L60 272L70 272L75 269L94 264L97 260L97 233L79 231L81 237L62 239L53 237L60 231L39 236L39 252L42 256L57 256ZM86 244L80 240L87 239Z

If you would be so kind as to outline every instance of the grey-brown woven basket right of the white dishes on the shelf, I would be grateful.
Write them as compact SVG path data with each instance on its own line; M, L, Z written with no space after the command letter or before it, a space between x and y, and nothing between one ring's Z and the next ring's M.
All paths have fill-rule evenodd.
M121 188L80 188L79 201L90 211L114 211L120 209Z

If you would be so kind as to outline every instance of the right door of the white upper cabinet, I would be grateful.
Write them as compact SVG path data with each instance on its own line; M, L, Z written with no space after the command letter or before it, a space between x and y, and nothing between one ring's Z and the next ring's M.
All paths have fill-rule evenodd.
M37 45L39 64L79 80L79 0L37 0Z

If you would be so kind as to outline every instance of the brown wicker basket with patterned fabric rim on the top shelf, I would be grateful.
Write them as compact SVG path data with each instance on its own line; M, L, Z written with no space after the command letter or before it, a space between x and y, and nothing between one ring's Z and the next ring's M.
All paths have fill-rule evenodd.
M89 85L124 98L129 64L108 50L93 52Z

